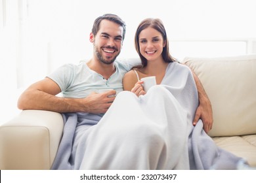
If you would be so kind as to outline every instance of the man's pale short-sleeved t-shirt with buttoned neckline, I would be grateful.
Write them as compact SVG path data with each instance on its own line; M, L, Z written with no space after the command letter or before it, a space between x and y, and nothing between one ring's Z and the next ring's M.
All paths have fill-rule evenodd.
M116 60L114 65L116 72L110 76L108 80L89 69L86 61L81 61L78 65L62 65L62 67L59 67L48 77L58 84L63 97L83 98L100 89L114 89L119 93L123 91L123 75L125 75L135 63L128 60Z

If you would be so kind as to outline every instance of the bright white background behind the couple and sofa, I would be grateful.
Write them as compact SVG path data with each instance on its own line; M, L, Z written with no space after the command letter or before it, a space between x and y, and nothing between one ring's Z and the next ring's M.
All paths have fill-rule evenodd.
M83 0L0 0L0 94L4 103L14 98L10 90L26 87L64 63L91 58L91 25L104 13L117 14L127 24L120 58L137 57L135 30L149 17L163 21L171 54L180 60L256 53L255 1L171 0L168 6L166 2L124 1L121 5L119 0L98 0L91 10ZM132 11L125 9L129 6Z

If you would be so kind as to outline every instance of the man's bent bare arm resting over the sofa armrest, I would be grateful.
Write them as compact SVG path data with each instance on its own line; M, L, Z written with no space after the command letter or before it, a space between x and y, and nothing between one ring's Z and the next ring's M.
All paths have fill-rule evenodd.
M91 93L83 99L56 97L60 93L56 82L45 78L32 84L20 95L18 108L21 110L37 109L51 110L54 112L91 112L104 113L110 107L115 97L113 91L106 93Z

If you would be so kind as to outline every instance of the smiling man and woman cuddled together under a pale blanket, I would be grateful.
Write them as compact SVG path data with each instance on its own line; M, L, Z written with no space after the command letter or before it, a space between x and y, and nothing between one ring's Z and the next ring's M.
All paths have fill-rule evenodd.
M116 59L125 30L114 14L96 18L93 58L60 67L20 96L20 109L62 113L64 133L52 169L235 169L241 159L207 136L211 105L198 78L171 58L161 21L139 25L137 67ZM151 75L158 85L145 93L140 78ZM95 92L106 88L114 90ZM60 92L64 97L55 96Z

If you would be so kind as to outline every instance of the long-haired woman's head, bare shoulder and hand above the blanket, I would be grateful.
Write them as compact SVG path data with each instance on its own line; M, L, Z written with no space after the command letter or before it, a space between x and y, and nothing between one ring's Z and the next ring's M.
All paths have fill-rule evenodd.
M142 65L133 68L123 78L123 89L144 95L140 78L156 76L161 84L169 63L175 61L169 54L169 42L161 20L147 18L142 21L135 35L135 47Z

